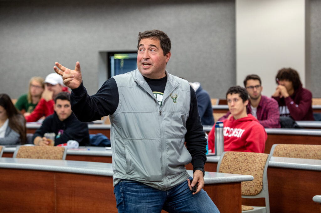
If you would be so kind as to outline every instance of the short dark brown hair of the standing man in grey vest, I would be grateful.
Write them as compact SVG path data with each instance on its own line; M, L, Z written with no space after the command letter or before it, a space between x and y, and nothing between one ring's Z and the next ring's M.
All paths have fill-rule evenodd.
M161 30L147 30L143 33L138 33L138 44L137 50L139 48L139 43L143 38L156 38L160 40L160 47L163 50L164 55L170 52L171 43L168 35Z

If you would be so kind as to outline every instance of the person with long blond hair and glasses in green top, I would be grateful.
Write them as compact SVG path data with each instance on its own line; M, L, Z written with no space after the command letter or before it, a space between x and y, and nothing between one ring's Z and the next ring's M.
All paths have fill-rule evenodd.
M28 94L20 96L15 104L19 111L24 111L24 116L30 115L37 106L44 91L43 78L32 77L29 81Z

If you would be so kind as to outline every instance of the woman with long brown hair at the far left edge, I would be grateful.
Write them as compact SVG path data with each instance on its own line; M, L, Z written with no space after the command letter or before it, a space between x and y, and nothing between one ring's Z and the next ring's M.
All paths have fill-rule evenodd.
M24 144L26 121L7 94L0 94L0 145Z

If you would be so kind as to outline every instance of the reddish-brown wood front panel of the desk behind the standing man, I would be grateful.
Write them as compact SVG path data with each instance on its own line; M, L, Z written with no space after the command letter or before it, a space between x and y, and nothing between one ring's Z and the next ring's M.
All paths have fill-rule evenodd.
M0 169L1 212L117 212L112 177ZM239 213L241 183L204 190L221 212Z

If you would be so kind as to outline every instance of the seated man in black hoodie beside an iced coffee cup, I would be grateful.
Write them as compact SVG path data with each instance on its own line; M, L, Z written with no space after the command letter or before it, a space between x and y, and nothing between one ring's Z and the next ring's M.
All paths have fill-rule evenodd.
M55 146L65 144L68 140L78 141L80 146L89 145L89 130L87 123L78 121L71 111L70 94L60 92L55 98L54 114L49 115L41 127L36 130L32 141L35 145L48 146L49 140L44 137L47 132L56 134Z

